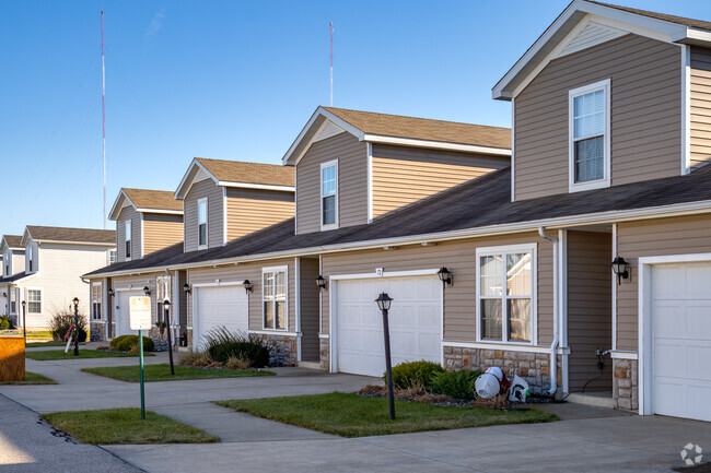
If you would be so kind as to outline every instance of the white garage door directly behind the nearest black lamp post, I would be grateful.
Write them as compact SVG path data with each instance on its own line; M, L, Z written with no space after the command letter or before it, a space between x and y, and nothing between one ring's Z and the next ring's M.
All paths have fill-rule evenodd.
M383 316L375 299L394 300L389 311L393 366L442 360L442 283L436 275L343 280L337 283L334 330L338 371L382 376L385 371Z

